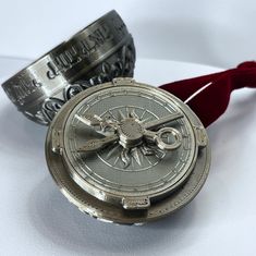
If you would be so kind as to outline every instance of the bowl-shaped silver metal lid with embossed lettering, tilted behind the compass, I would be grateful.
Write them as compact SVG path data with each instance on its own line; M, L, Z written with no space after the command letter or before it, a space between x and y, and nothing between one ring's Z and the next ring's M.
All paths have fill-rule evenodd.
M133 76L135 48L115 11L92 23L68 41L2 84L28 119L49 124L72 96L118 76Z

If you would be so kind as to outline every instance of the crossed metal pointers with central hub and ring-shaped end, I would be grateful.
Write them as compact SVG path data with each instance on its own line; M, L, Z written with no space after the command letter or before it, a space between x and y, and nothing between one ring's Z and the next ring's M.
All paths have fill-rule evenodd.
M120 111L120 115L122 117L121 120L105 120L100 117L94 114L93 117L84 115L80 117L76 115L78 120L84 122L85 124L89 126L101 126L101 130L106 130L107 127L112 129L113 132L117 131L117 133L112 136L105 137L101 139L90 139L86 142L82 148L78 148L80 151L94 151L99 150L100 148L103 148L108 146L110 143L114 143L119 141L119 143L124 148L133 148L136 146L139 146L143 144L143 139L151 139L156 142L157 146L160 149L167 149L172 150L181 146L182 135L181 133L172 127L163 127L160 129L158 132L149 131L149 129L155 129L157 126L160 126L164 123L169 123L173 120L176 120L179 118L182 118L183 114L181 113L174 113L170 114L168 117L161 118L160 120L157 120L157 122L149 122L144 124L145 122L139 120L139 117L135 113L135 110L131 111L129 113L129 117L122 115L123 113ZM92 119L93 118L93 119ZM96 121L98 120L98 122ZM96 130L97 131L97 130ZM167 144L162 141L162 135L171 133L173 135L174 142L171 144ZM102 131L101 131L102 134Z

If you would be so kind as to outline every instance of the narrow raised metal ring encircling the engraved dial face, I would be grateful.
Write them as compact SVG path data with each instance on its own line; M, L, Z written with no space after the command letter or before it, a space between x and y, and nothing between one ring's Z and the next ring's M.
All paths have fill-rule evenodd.
M111 83L107 83L107 84L103 84L102 86L97 86L97 92L92 92L92 90L87 90L86 92L86 98L90 97L90 96L94 96L94 94L103 94L105 90L107 89L111 89L111 88L117 88L119 89L118 86L112 86ZM138 196L138 194L141 194L141 196L147 196L148 198L150 199L155 199L157 197L161 197L162 194L169 194L171 193L172 191L174 191L178 186L180 186L185 180L186 178L191 174L191 172L193 171L193 167L195 164L195 161L196 161L196 157L197 157L197 154L198 154L198 147L196 146L196 138L195 138L195 134L194 134L194 131L192 129L192 124L190 123L190 115L191 113L187 111L186 108L184 108L184 103L183 102L178 102L175 98L172 97L172 95L170 94L167 94L166 92L162 94L162 92L159 92L158 89L156 89L156 87L153 87L153 86L148 86L148 85L143 85L143 84L138 84L136 83L136 86L135 85L130 85L130 86L124 86L122 85L122 89L124 90L129 90L129 88L134 88L135 90L139 90L141 89L144 89L144 93L148 92L150 89L150 94L158 94L159 98L161 98L162 100L166 100L168 99L169 101L172 102L173 106L175 106L175 108L179 108L179 110L182 111L182 113L184 114L184 118L185 118L185 121L188 123L190 125L190 133L193 135L192 136L192 144L195 145L195 148L194 148L194 151L193 154L190 156L190 164L187 166L187 170L185 173L183 173L182 175L179 175L176 179L174 179L174 184L172 186L170 186L169 184L166 184L163 187L158 187L157 188L157 192L155 191L154 193L150 191L150 192L139 192L139 193L135 193L137 194L136 196ZM133 92L134 93L134 92ZM85 95L84 95L85 96ZM85 191L87 191L89 194L94 195L95 197L101 199L102 196L105 198L108 198L108 200L111 200L111 202L115 202L117 204L120 204L120 202L122 200L122 197L124 196L132 196L132 197L136 197L134 195L134 193L125 193L125 192L119 192L119 193L113 193L113 188L111 187L107 187L106 185L100 185L97 183L97 181L90 181L88 182L87 180L84 180L83 179L83 173L81 173L80 171L76 171L75 170L75 167L73 166L73 163L71 162L71 159L70 157L68 156L68 153L66 153L66 149L65 149L65 145L66 145L66 129L68 129L68 123L70 123L70 120L71 120L71 113L80 108L81 105L84 105L84 98L81 99L80 101L76 100L75 102L75 106L70 106L69 108L69 117L66 118L66 121L65 121L65 124L63 126L63 142L61 142L61 144L63 144L63 153L62 153L62 156L63 156L63 161L65 163L65 166L69 168L70 170L70 175L73 178L73 180L75 180L75 182L81 186L83 187ZM181 108L181 106L183 106L183 108ZM99 191L101 193L99 193Z

